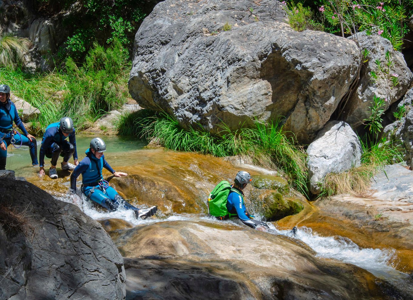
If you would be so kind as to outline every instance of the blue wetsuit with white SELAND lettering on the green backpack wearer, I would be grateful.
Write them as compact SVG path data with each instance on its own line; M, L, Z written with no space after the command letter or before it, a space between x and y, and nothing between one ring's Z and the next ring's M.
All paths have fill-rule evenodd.
M242 223L249 227L255 228L257 225L265 224L261 221L250 219L247 216L247 208L244 204L244 193L235 187L231 189L230 194L228 195L227 209L230 213L230 217L237 216L242 221ZM264 226L268 227L267 224L265 224Z

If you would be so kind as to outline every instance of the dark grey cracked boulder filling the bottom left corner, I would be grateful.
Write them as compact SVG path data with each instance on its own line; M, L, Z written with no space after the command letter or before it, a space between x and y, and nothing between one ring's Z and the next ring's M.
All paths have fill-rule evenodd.
M1 299L125 297L123 258L99 223L28 182L0 179L0 195L28 215L26 233L0 227Z

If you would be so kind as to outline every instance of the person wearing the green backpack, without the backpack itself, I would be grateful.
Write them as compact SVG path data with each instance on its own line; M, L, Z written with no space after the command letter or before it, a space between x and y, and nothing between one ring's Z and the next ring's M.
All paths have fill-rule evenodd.
M227 198L227 209L229 215L237 216L245 225L255 228L259 225L268 228L265 222L254 220L251 215L247 212L247 208L244 204L244 193L243 189L252 181L251 175L246 171L240 171L235 176L234 185L231 188L230 194Z

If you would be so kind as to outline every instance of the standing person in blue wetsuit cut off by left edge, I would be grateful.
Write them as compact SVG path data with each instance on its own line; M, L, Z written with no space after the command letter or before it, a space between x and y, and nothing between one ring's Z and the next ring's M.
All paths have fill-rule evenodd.
M13 122L24 135L13 129ZM36 138L27 132L21 122L16 105L10 100L10 87L2 84L0 85L0 170L6 169L7 146L10 144L29 146L31 164L38 165Z

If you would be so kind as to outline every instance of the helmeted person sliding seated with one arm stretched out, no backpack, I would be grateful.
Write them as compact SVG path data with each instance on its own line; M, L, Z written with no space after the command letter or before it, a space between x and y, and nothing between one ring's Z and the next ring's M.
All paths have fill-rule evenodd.
M123 199L114 188L103 180L103 168L109 170L115 177L126 176L123 172L115 172L104 159L103 152L106 151L105 142L96 137L90 141L90 148L86 150L86 157L76 166L70 176L71 193L76 193L76 179L82 174L82 192L88 199L96 202L109 211L115 211L119 206L131 209L135 212L135 217L143 219L154 215L157 211L156 206L148 209L139 209Z

